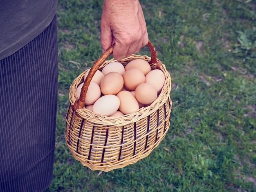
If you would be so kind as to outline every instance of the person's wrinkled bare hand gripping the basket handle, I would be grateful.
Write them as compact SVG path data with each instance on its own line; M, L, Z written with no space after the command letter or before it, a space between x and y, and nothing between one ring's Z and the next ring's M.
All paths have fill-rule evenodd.
M148 32L138 0L104 0L101 16L103 51L115 43L113 57L121 60L148 43Z

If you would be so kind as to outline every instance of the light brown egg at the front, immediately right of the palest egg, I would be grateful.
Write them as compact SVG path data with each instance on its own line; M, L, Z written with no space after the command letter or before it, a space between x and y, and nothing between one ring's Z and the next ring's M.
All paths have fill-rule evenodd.
M131 114L139 109L138 101L129 91L121 91L117 97L120 100L119 110L123 114Z

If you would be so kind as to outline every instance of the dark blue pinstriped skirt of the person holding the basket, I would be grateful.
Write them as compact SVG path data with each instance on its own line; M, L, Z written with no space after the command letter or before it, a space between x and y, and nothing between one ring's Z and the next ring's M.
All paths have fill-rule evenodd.
M56 16L0 60L0 191L44 191L53 178L58 92Z

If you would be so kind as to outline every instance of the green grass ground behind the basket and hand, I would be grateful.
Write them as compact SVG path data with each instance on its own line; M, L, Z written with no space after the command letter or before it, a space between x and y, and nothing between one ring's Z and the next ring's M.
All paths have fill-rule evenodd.
M255 1L141 0L172 78L171 125L148 157L110 172L83 167L64 138L69 86L101 54L101 5L58 1L56 150L46 191L256 191Z

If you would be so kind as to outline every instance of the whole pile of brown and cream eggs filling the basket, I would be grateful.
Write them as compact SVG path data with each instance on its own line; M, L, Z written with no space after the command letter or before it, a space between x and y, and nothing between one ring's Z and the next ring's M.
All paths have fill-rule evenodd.
M84 80L89 70L85 72ZM153 103L164 86L165 76L146 60L135 59L125 67L119 62L108 63L97 70L85 96L85 108L95 114L119 117L131 114ZM80 97L81 83L76 89Z

